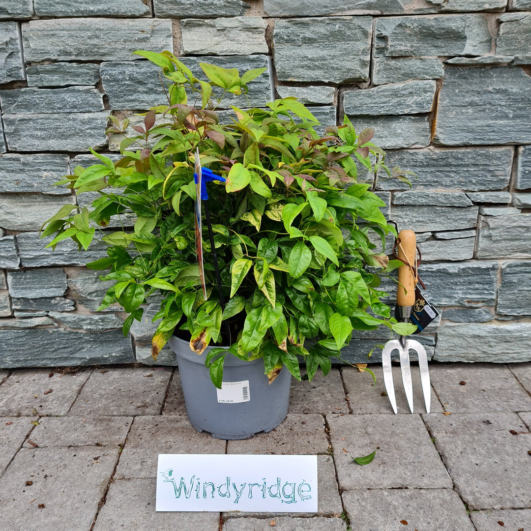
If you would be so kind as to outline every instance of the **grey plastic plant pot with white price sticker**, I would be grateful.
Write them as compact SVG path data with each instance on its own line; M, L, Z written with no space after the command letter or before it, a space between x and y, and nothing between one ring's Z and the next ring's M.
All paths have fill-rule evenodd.
M204 364L214 347L198 356L188 341L172 336L168 344L177 355L186 413L197 431L210 432L216 439L247 439L271 431L286 418L292 381L286 367L270 385L262 358L245 362L227 353L224 390L218 392Z

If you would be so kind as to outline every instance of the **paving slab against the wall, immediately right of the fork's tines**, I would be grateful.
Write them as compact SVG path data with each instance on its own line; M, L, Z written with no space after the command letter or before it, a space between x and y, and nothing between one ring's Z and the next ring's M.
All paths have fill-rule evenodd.
M504 364L431 364L430 378L447 412L531 411L531 397Z

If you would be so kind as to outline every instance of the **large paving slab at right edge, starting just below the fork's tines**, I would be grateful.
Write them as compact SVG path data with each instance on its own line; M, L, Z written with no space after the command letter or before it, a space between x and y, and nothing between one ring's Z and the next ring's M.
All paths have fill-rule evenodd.
M470 509L531 506L531 433L516 413L424 415Z

